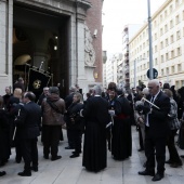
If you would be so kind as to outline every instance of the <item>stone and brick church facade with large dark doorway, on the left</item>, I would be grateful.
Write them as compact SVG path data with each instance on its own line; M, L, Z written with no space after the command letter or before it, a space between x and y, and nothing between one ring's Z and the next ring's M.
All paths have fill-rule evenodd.
M0 94L27 64L52 74L63 95L102 82L102 4L95 0L0 0ZM88 52L87 52L88 51Z

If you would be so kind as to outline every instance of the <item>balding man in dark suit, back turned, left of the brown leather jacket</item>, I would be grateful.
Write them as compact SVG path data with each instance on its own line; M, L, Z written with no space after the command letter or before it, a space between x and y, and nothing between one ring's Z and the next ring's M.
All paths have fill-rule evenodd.
M24 171L18 173L21 176L30 176L31 170L38 171L37 136L40 135L41 108L35 103L35 98L32 92L24 94L25 105L15 120L18 127L16 133L21 139L21 149L25 161Z

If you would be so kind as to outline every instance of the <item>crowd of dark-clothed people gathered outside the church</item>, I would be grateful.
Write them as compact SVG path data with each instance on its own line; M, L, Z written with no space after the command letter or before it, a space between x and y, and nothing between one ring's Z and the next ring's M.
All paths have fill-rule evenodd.
M22 82L21 80L18 82ZM140 137L139 152L145 152L145 170L140 175L152 175L153 181L165 176L165 163L181 167L182 159L175 147L184 148L184 87L174 90L168 83L160 87L157 79L146 87L132 88L130 92L118 89L110 82L103 91L95 86L87 98L70 87L69 94L62 98L57 87L45 87L36 102L32 92L25 92L22 84L9 87L0 96L0 166L10 159L15 147L15 161L24 160L21 176L30 176L38 171L38 136L41 134L43 158L58 160L58 143L63 141L66 127L70 158L82 153L82 166L92 172L107 167L107 150L115 160L124 160L132 155L131 127L135 126ZM83 136L83 145L82 145ZM166 160L166 147L169 160ZM83 148L83 149L82 149ZM155 157L157 169L155 172ZM0 171L0 176L5 171Z

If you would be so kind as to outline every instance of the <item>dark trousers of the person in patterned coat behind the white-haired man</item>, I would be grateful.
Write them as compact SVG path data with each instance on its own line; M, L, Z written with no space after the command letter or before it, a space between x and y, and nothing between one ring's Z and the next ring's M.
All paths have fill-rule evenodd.
M169 149L169 160L171 162L175 162L175 163L181 163L182 160L180 159L179 153L175 148L175 143L174 143L174 136L176 134L178 130L171 130L170 131L170 135L168 136L168 149Z

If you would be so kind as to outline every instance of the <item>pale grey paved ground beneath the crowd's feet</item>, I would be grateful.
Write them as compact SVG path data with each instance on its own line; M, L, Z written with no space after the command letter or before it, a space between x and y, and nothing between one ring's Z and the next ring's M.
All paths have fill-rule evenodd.
M124 161L115 161L110 153L107 156L107 168L98 173L88 172L82 166L82 154L78 158L69 158L71 150L64 149L67 146L66 132L65 141L60 144L58 155L62 159L56 161L45 160L42 157L42 145L39 147L39 171L32 172L31 176L22 178L17 172L23 171L24 163L15 163L15 154L12 149L10 161L0 168L6 171L6 175L0 178L0 184L149 184L152 176L137 175L137 171L144 170L144 153L139 153L139 139L135 128L132 127L133 149L132 157ZM184 150L179 150L184 154ZM168 154L167 154L168 158ZM184 162L184 159L183 159ZM170 168L166 166L165 179L158 184L183 184L184 167Z

